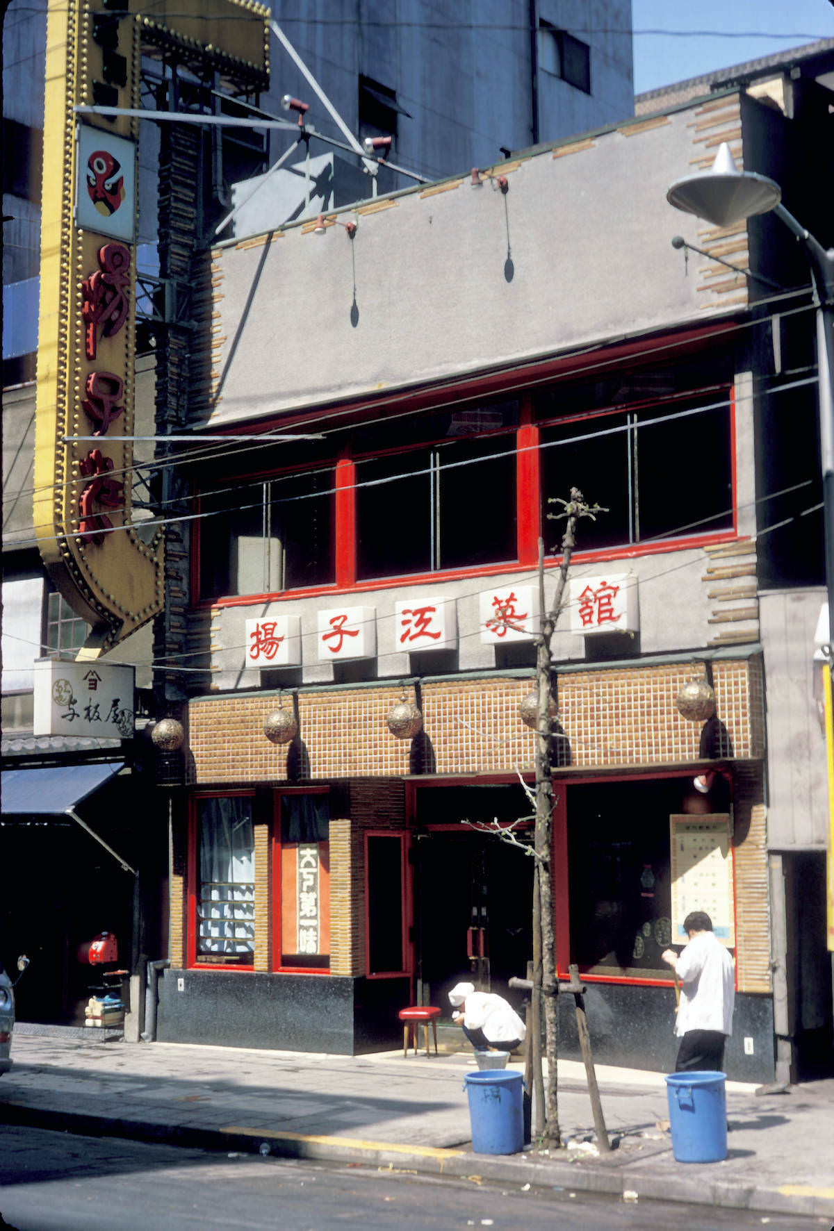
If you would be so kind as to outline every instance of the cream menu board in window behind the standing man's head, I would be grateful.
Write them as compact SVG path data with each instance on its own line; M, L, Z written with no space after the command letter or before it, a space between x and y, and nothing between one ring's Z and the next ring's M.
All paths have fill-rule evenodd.
M684 920L706 911L712 931L728 949L735 948L733 852L731 819L726 814L670 816L671 943L686 944Z

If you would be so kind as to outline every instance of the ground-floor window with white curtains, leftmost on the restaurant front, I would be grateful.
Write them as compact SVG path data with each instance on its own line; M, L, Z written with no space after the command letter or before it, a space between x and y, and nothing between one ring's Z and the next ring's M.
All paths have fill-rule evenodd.
M197 798L197 961L250 965L255 952L251 795Z

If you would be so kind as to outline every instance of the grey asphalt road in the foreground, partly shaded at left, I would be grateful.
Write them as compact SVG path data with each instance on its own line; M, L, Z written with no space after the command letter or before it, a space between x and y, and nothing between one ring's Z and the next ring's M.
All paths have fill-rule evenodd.
M626 1204L565 1189L209 1153L43 1129L0 1130L0 1213L17 1231L798 1231L816 1219L655 1201ZM476 1160L473 1160L476 1162ZM828 1224L825 1224L828 1231ZM4 1224L0 1222L0 1231Z

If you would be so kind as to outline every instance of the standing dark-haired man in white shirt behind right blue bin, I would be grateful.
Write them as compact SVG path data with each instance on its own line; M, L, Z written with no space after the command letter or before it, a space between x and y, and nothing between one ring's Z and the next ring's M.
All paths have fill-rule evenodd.
M724 1044L733 1033L733 959L716 938L705 911L691 911L684 920L684 931L689 944L681 955L674 949L662 954L681 984L675 1019L675 1034L681 1041L675 1072L697 1069L719 1072Z

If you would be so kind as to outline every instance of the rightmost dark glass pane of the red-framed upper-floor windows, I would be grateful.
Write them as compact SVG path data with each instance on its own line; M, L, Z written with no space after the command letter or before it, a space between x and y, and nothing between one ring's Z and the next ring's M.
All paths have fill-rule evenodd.
M733 526L729 405L653 422L670 414L666 406L637 415L639 542Z

